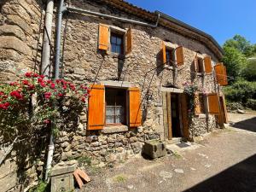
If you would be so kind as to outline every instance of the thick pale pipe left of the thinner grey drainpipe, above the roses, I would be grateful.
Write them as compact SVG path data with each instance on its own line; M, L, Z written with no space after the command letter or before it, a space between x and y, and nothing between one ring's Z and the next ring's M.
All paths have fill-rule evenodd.
M40 68L40 73L49 77L49 60L50 60L50 38L51 38L51 27L52 27L52 16L54 9L54 1L48 0L46 6L46 14L44 20L44 44L42 53L42 65Z

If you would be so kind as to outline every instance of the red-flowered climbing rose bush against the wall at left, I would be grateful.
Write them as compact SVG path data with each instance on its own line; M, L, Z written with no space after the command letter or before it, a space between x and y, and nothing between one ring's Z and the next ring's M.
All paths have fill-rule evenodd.
M12 135L44 127L55 120L67 102L66 110L83 109L89 94L84 84L75 86L63 79L49 80L28 72L19 81L0 84L0 128Z

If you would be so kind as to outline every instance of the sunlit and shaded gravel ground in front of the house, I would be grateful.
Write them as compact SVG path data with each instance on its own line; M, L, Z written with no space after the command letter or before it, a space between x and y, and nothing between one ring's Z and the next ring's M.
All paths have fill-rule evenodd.
M239 126L213 131L174 155L137 157L113 168L91 169L92 181L83 191L256 192L256 113L229 113L229 118Z

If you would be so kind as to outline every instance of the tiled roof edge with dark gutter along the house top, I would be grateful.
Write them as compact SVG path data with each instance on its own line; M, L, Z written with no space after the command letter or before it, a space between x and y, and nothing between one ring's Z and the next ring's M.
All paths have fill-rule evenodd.
M199 41L201 44L206 45L208 49L212 50L218 59L221 59L224 54L223 49L211 35L206 32L202 32L193 26L189 26L183 21L177 20L170 15L166 15L160 11L150 12L131 3L127 3L124 0L102 0L102 2L152 23L155 23L158 15L160 15L159 26L166 27L173 32L183 35L184 37Z

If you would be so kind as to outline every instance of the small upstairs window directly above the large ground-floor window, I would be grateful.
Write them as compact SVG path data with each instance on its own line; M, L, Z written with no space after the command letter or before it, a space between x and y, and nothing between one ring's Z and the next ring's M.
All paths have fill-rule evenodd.
M124 35L111 32L110 35L111 51L120 55L124 54Z

